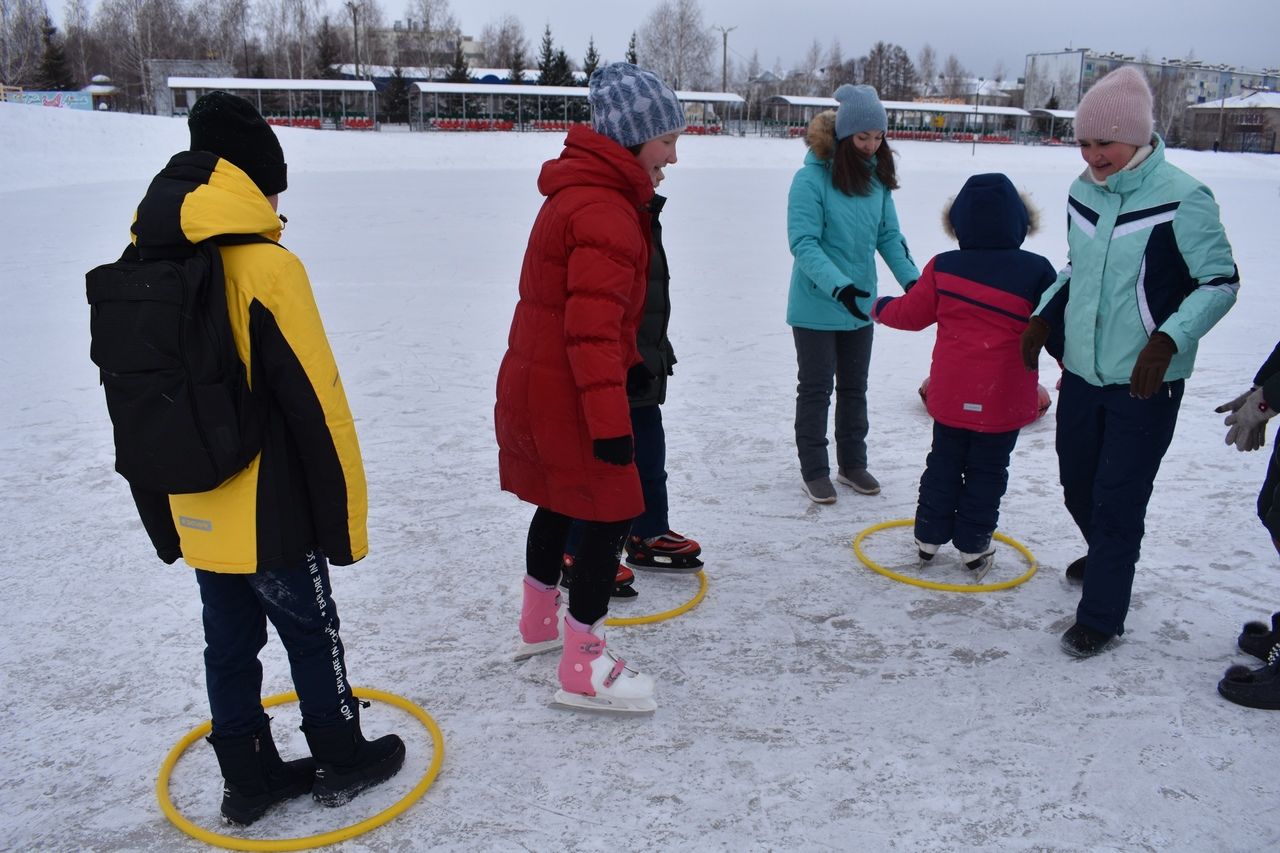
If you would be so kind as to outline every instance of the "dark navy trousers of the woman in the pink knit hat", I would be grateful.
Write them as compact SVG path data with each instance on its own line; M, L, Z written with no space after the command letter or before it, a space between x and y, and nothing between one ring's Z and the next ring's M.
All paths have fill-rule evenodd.
M1062 497L1089 546L1075 620L1123 634L1133 592L1147 502L1174 438L1183 380L1148 400L1129 386L1091 386L1062 374L1057 398L1057 465Z

